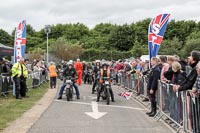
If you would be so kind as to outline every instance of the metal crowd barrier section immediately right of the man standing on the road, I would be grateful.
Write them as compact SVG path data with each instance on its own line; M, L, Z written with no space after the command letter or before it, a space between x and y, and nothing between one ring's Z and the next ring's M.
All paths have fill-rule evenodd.
M183 99L181 98L181 93L174 92L173 86L161 81L158 82L157 90L157 107L158 120L163 116L166 116L169 120L178 126L177 132L182 128L183 123ZM155 117L156 117L155 116Z

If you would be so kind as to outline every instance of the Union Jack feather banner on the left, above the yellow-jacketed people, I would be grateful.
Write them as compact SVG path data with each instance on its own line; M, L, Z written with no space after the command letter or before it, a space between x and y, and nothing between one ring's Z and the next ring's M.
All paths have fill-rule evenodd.
M25 56L26 48L26 20L20 22L15 30L14 61L17 62Z

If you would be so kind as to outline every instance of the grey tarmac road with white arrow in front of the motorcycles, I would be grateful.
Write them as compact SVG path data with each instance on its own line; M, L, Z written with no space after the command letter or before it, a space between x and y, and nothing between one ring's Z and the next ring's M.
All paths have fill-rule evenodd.
M102 100L96 103L91 85L82 85L79 89L80 100L68 102L65 96L62 100L55 99L28 133L172 132L162 122L146 116L146 110L137 102L118 96L120 91L116 87L113 88L116 102L111 105Z

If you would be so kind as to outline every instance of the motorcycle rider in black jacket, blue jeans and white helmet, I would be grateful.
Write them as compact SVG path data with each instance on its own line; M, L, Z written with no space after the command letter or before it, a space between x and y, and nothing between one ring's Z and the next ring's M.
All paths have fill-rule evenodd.
M65 78L67 76L71 76L73 78L77 78L78 77L78 74L76 72L76 69L74 68L73 62L71 62L71 61L68 62L68 67L66 67L64 72L63 72L63 77L64 77L63 85L61 86L61 88L59 90L59 94L58 94L58 98L57 99L62 99L62 94L63 94L63 91L64 91L65 86L66 86L64 84L64 82L65 82ZM78 86L77 86L75 80L73 81L73 87L75 88L77 99L80 99L79 89L78 89Z

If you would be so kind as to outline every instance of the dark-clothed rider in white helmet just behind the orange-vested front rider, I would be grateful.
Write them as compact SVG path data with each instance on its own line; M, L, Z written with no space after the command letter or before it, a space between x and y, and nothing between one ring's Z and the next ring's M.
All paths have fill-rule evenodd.
M94 70L93 70L93 73L94 73L94 76L95 76L95 80L94 80L94 83L93 83L93 86L92 86L92 94L94 94L94 89L95 89L95 86L98 82L98 77L100 76L100 69L101 69L101 61L100 60L96 60L96 65L94 67Z

